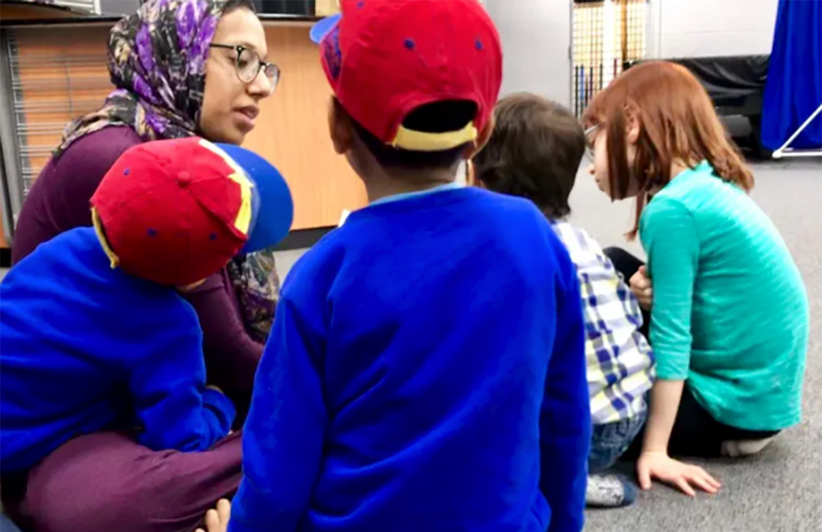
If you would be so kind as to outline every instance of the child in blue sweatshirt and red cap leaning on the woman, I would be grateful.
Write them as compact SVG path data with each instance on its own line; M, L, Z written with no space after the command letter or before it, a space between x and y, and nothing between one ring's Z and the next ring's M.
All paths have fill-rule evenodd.
M151 450L182 452L224 438L234 407L205 385L202 332L178 291L240 250L274 244L291 218L274 167L197 138L129 149L91 204L95 227L40 245L0 284L4 496L5 479L22 478L19 491L31 497L27 472L84 435L122 431ZM230 461L219 456L221 465ZM122 464L111 458L100 454L117 470ZM239 447L234 459L238 465ZM104 479L77 484L95 481ZM95 530L92 522L76 525Z

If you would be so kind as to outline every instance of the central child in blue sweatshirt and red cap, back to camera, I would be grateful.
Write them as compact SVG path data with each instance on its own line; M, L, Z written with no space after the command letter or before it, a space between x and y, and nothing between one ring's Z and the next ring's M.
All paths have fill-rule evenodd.
M579 532L575 268L529 201L454 183L492 131L496 29L476 0L341 6L315 33L370 205L284 282L229 530Z

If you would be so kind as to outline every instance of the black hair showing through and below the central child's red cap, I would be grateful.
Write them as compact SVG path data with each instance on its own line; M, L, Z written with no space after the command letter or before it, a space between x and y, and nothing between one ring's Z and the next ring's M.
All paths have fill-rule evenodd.
M339 103L338 103L339 104ZM403 126L425 133L446 133L463 129L477 116L477 104L464 100L450 100L422 105L405 117ZM452 167L459 163L467 144L444 151L422 152L398 149L384 144L362 124L351 118L354 131L363 140L376 162L384 167L407 170L431 170Z

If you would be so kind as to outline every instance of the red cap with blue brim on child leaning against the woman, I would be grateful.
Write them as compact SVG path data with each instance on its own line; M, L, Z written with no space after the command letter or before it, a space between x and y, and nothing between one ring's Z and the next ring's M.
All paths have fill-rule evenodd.
M169 286L201 281L240 252L275 245L293 218L275 167L197 137L128 149L91 206L112 268Z

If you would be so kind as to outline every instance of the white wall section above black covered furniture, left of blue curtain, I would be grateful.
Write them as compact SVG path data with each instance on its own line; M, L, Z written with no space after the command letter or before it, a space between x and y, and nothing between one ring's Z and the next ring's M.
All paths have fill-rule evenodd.
M663 58L770 53L778 4L778 0L651 0L649 53Z

